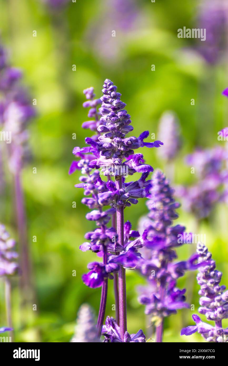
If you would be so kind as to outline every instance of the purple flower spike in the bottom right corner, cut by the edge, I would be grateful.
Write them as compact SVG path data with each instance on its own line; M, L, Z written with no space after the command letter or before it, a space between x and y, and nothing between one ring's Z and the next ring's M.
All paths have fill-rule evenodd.
M216 269L212 254L203 243L197 244L199 273L197 282L199 290L199 313L206 316L207 320L214 321L215 326L201 320L198 315L193 315L196 325L183 328L181 335L189 336L195 332L202 335L208 342L227 342L228 328L222 327L222 320L228 318L228 291L220 285L222 273ZM225 337L225 340L224 340Z

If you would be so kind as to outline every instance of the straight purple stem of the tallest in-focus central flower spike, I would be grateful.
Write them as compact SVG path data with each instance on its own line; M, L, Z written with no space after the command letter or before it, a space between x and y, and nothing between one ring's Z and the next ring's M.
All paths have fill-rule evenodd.
M116 177L116 189L122 189L122 176ZM124 246L124 214L123 206L116 209L117 234L119 244ZM123 340L127 331L127 300L126 300L126 273L125 268L120 266L119 270L119 314L120 314L120 336Z

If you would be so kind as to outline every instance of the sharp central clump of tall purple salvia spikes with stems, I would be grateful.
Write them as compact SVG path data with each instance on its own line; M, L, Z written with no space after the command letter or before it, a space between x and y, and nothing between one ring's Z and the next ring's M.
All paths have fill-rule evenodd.
M128 260L133 264L138 257L135 253L138 244L132 244L132 248L130 248L127 243L129 235L137 238L138 234L136 232L130 234L127 228L124 233L123 211L124 208L136 204L138 198L147 197L150 180L146 179L153 171L150 165L145 164L142 154L134 154L134 150L143 146L159 147L162 142L144 142L149 131L142 132L139 137L126 138L126 134L133 130L130 125L130 115L123 109L126 104L120 100L121 94L117 92L117 87L109 79L105 80L103 87L101 118L97 128L101 135L97 141L92 138L85 139L90 147L80 148L77 146L73 150L73 154L80 159L75 162L75 169L81 169L84 174L80 178L81 183L76 184L75 187L84 188L86 196L91 194L91 197L83 198L82 202L92 209L86 215L86 219L95 221L98 226L93 232L86 234L85 238L89 239L90 243L83 243L80 249L82 251L92 250L103 258L102 264L99 262L90 263L88 265L90 272L83 275L82 279L89 287L102 285L97 323L98 335L100 336L105 315L108 278L113 279L112 273L115 274L119 270L120 336L123 340L127 331L126 279L123 260ZM91 100L93 89L87 89L85 94ZM108 176L108 181L103 181L100 172L93 171L94 168L102 168L102 173L104 173L103 169L108 168L107 173L106 171L104 173ZM141 172L141 178L135 182L125 182L123 175L133 175L135 172ZM111 180L112 177L115 177L116 183ZM104 210L105 206L111 206L111 208ZM107 228L106 226L115 213L117 233L115 228ZM115 238L114 242L113 238ZM129 248L130 251L128 251ZM119 253L121 254L115 256L114 260L113 255ZM120 261L116 261L116 257L119 257Z

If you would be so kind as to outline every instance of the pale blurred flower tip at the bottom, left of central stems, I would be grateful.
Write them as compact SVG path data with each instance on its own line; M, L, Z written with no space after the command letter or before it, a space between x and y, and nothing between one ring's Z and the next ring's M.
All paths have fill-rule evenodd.
M75 334L71 339L73 343L98 343L97 327L91 307L83 304L78 311Z

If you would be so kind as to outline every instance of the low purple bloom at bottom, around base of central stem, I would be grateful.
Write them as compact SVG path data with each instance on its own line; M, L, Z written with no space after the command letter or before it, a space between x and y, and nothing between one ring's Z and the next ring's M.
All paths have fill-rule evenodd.
M107 317L105 320L105 325L102 327L102 336L104 336L105 343L142 343L146 342L146 336L143 334L142 329L140 329L136 334L124 333L124 339L120 336L120 327L116 323L116 320L112 317Z

